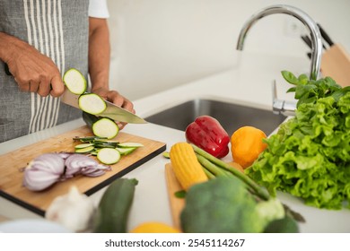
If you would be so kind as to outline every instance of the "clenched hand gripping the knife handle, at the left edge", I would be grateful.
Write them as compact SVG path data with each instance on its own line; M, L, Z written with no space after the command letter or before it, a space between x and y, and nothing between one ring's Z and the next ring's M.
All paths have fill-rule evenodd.
M48 94L58 97L65 91L57 65L48 56L4 33L1 39L5 39L9 45L7 52L1 51L1 58L8 65L21 91L37 92L42 97Z

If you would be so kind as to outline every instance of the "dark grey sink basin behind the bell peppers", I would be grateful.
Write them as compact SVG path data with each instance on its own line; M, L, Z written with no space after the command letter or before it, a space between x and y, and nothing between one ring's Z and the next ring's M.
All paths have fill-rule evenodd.
M251 125L271 134L286 118L272 111L250 108L216 100L190 100L178 106L168 108L145 120L157 125L164 125L185 131L188 124L196 117L208 115L216 118L229 135L244 125Z

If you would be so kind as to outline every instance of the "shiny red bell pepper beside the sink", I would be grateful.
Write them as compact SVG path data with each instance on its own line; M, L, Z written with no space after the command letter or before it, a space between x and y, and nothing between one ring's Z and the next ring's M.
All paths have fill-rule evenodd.
M197 117L186 128L186 139L216 158L223 158L229 153L229 134L214 117Z

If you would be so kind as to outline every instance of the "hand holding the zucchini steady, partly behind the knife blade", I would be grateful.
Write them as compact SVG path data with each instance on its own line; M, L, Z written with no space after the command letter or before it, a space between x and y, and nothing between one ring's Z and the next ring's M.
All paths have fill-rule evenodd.
M92 89L92 92L98 94L99 96L101 96L101 98L108 100L109 102L117 105L118 107L125 108L134 114L136 113L133 103L130 100L127 100L122 95L120 95L118 91L109 91L105 88L99 88L96 90ZM116 123L119 129L123 129L124 126L127 125L127 123L124 122L117 121Z

